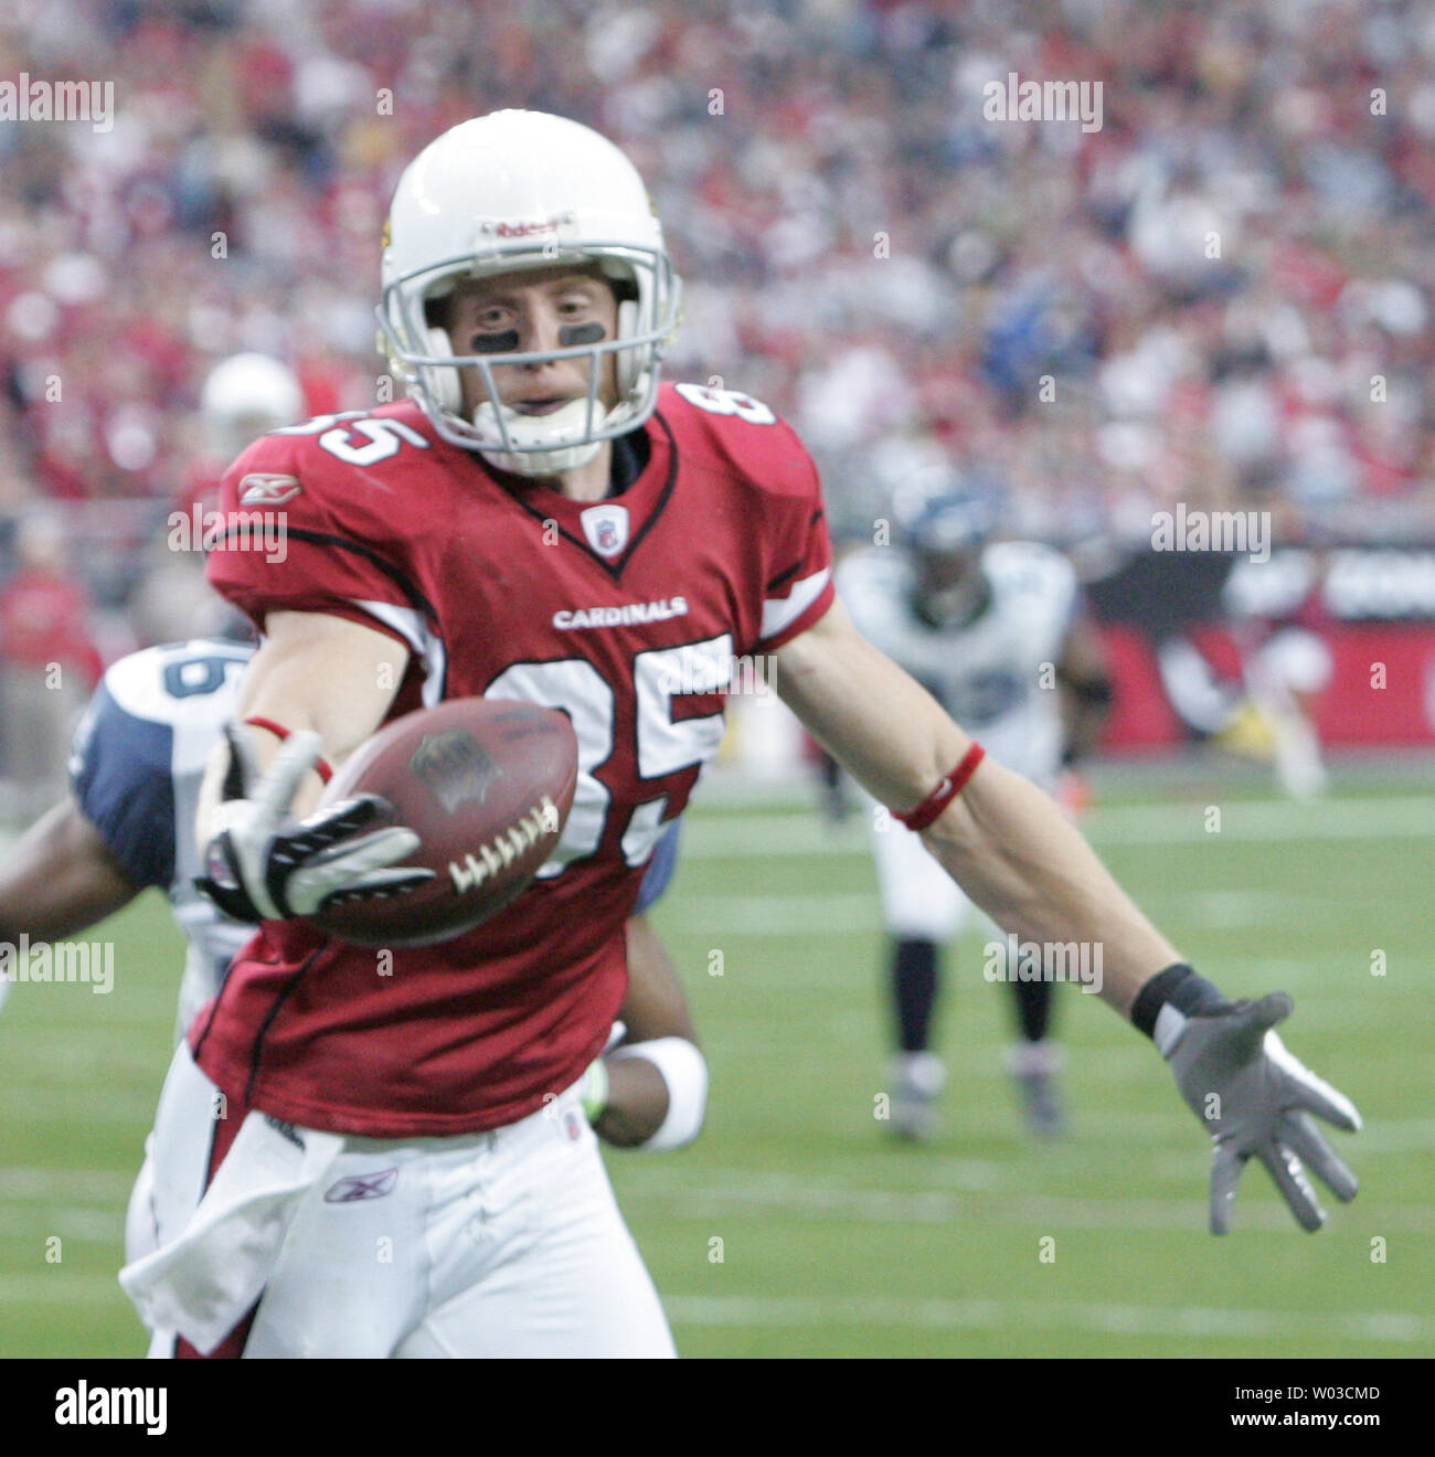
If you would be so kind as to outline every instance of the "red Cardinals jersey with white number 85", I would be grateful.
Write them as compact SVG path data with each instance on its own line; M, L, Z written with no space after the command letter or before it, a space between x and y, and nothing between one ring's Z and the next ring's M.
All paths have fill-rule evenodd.
M664 386L616 497L500 482L412 404L265 436L224 478L208 576L256 624L325 612L404 641L392 714L484 694L564 710L578 785L554 858L441 946L377 953L267 924L189 1037L230 1096L309 1128L498 1128L575 1081L626 985L624 922L723 734L740 660L817 621L813 463L746 395ZM245 517L270 517L261 522ZM283 548L272 527L283 522Z

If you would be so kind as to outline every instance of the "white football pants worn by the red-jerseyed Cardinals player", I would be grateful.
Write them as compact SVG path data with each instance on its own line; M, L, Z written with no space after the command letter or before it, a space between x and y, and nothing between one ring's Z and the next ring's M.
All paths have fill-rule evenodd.
M205 1185L217 1099L181 1043L131 1205L130 1259L188 1224ZM173 1352L173 1332L154 1332L150 1355ZM347 1138L299 1203L243 1355L675 1351L570 1088L491 1134Z

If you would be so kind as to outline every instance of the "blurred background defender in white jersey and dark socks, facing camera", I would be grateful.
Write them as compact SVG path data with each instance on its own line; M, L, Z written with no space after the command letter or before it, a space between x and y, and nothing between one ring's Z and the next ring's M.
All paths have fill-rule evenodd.
M992 758L1064 796L1064 769L1090 749L1110 701L1100 641L1080 610L1077 576L1036 542L988 545L991 513L970 495L938 495L900 546L848 557L838 589L858 631L905 667ZM1074 807L1074 806L1071 806ZM873 849L892 937L897 1053L892 1129L922 1138L945 1068L931 1050L941 949L970 902L921 836L873 816ZM1059 1050L1050 1037L1052 982L1011 981L1018 1040L1010 1068L1034 1132L1058 1132Z

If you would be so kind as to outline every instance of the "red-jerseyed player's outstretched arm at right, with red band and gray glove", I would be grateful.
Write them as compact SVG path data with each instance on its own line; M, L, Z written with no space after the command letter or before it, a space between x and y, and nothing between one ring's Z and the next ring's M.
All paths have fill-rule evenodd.
M972 740L895 663L865 643L841 603L778 650L778 692L809 731L897 814L927 819ZM918 826L921 828L921 826ZM1227 1001L1180 962L1096 852L1040 790L991 759L931 817L924 842L1007 931L1037 944L1101 950L1100 994L1148 1033L1214 1144L1211 1230L1224 1234L1241 1169L1265 1164L1297 1221L1324 1221L1305 1166L1339 1199L1356 1180L1310 1115L1358 1129L1343 1094L1275 1033L1291 1011L1273 992Z

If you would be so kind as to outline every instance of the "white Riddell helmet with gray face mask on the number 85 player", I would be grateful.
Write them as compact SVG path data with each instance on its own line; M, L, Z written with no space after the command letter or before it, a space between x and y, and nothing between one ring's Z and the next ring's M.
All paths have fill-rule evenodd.
M618 337L551 351L457 356L428 305L465 278L597 265L618 293ZM682 286L634 165L596 131L539 111L495 111L431 141L405 169L385 226L382 347L444 440L520 475L586 465L599 441L642 424L657 402L658 358L677 328ZM599 398L618 360L618 401ZM587 399L551 415L503 405L495 364L589 358ZM460 369L487 399L465 415Z

